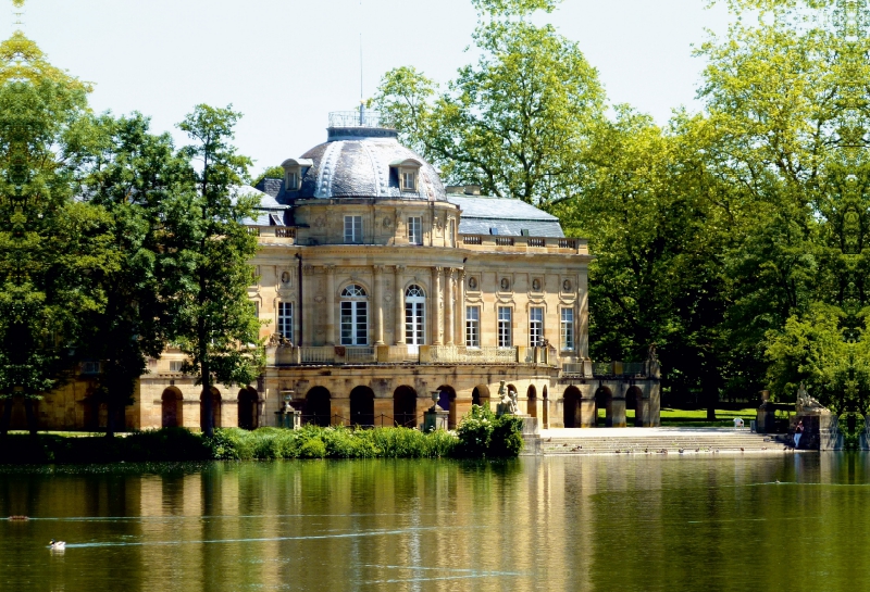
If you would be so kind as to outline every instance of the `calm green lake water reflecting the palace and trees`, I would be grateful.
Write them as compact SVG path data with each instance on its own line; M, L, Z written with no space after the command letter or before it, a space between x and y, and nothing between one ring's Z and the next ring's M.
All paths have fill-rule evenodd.
M0 473L0 590L866 589L868 456Z

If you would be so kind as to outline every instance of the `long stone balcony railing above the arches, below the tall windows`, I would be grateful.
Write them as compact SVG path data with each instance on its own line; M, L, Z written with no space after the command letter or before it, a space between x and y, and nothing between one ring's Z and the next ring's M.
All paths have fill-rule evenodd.
M554 365L548 348L467 348L464 345L279 345L266 348L266 364L333 366L345 364L538 364ZM554 361L552 363L550 361Z

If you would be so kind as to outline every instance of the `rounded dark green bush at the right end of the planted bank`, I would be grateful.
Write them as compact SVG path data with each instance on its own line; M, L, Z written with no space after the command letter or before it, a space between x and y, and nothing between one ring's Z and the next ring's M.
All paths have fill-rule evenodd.
M523 450L523 423L515 415L496 416L488 407L472 405L457 428L456 455L465 458L518 456Z

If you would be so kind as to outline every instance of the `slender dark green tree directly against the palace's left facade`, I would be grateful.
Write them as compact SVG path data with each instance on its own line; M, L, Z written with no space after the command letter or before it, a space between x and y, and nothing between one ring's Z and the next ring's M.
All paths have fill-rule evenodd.
M190 358L182 371L195 374L202 386L207 436L214 429L212 386L250 383L264 363L260 323L247 293L257 237L243 224L257 198L237 190L250 160L229 143L238 117L231 108L201 104L179 124L195 141L179 153L197 162L160 212L158 269L167 337Z

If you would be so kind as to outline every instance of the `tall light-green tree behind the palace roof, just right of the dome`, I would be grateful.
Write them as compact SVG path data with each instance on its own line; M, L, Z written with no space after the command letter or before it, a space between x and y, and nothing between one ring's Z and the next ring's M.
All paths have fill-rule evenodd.
M412 67L386 73L373 104L455 184L548 205L576 193L604 91L577 45L550 25L512 21L552 2L478 2L476 65L447 92Z

